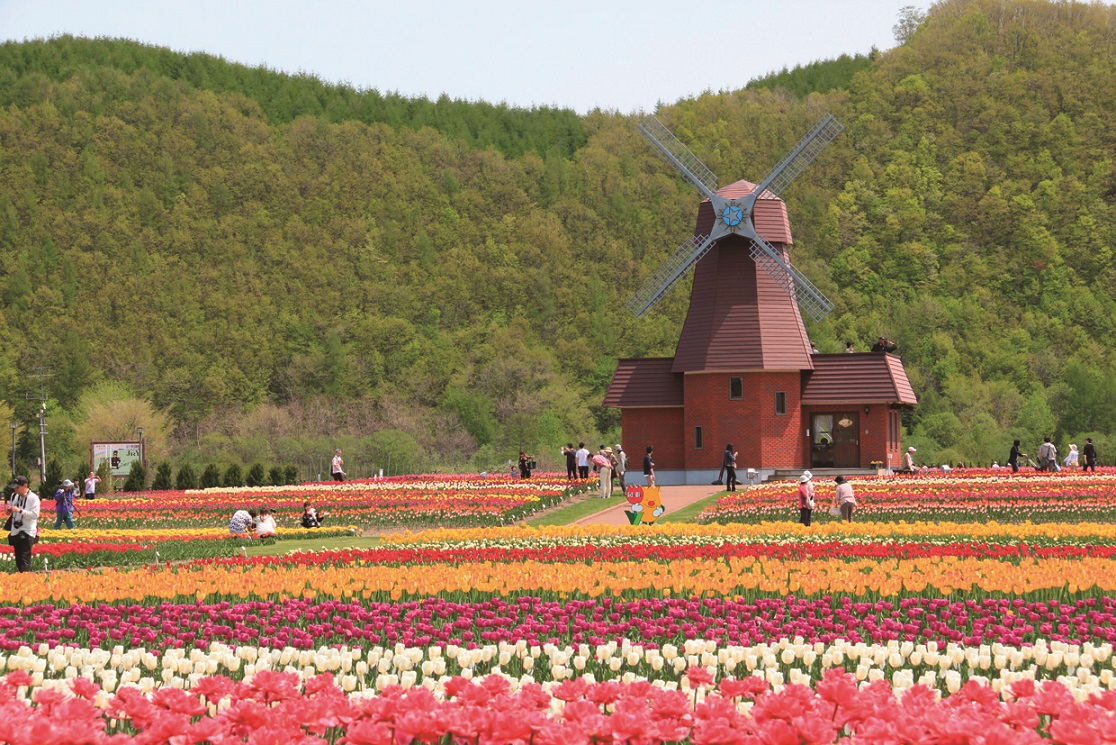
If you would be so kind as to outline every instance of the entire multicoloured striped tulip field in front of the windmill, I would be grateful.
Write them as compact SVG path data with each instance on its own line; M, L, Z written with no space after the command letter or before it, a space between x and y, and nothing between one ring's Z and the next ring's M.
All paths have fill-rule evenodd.
M1116 742L1116 472L855 478L857 521L810 528L790 483L535 528L514 511L565 480L483 481L148 493L45 531L36 562L222 548L0 586L0 742ZM282 545L306 500L338 534L416 517L225 550L231 509L277 505Z

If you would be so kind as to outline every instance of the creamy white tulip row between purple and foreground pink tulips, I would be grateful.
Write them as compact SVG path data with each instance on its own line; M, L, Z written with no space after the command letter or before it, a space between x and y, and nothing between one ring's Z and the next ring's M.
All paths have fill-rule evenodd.
M1057 679L1084 700L1090 694L1116 687L1114 666L1116 656L1108 644L1078 646L1040 640L1031 647L1018 648L999 644L942 646L933 641L824 645L807 644L801 638L751 647L719 646L716 641L699 639L681 648L664 645L661 649L627 640L596 647L538 647L519 641L474 649L396 645L367 650L231 648L213 644L208 650L169 649L161 656L143 648L125 650L119 646L106 651L40 645L37 649L21 647L13 655L0 656L0 671L26 670L32 688L65 690L71 678L93 680L102 688L97 697L102 704L121 686L133 685L144 691L164 686L190 688L205 676L220 674L251 679L261 670L295 673L304 680L327 673L346 691L374 693L392 685L424 686L440 691L454 675L466 678L503 675L513 688L537 680L549 686L581 677L590 683L651 680L667 688L689 689L684 674L699 667L715 679L759 676L777 689L787 684L809 685L829 668L849 670L862 685L887 680L896 691L922 684L942 693L955 693L966 680L978 680L1006 698L1016 680Z

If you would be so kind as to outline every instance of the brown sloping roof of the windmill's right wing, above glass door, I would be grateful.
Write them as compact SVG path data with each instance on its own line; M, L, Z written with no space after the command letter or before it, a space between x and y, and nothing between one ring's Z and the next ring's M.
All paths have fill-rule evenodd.
M903 360L878 351L815 355L814 373L802 390L804 406L917 403Z

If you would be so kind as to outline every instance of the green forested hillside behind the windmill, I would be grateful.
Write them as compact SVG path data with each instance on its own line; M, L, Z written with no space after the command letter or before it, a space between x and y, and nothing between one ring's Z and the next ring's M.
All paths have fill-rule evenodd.
M837 303L811 338L895 339L910 442L991 461L1013 436L1106 442L1116 408L1114 43L1105 6L947 0L835 61L847 84L741 80L660 116L724 182L827 110L846 125L785 195ZM0 393L26 418L26 373L52 366L56 438L123 381L172 445L244 458L383 430L550 452L617 434L596 404L618 356L674 351L685 288L643 320L623 303L699 200L635 116L65 37L0 46Z

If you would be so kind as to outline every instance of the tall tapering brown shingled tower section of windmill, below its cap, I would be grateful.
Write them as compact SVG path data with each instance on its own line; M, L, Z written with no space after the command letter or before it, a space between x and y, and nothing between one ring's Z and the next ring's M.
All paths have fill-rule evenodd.
M812 369L798 303L757 271L750 249L729 235L698 262L675 373Z

